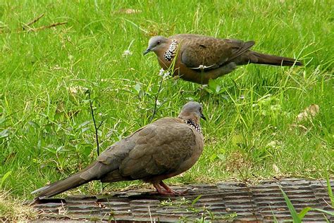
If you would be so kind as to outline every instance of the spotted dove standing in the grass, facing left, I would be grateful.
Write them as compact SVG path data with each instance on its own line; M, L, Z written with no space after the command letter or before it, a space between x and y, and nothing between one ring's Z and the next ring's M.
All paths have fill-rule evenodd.
M197 34L176 34L151 37L144 55L154 51L164 70L173 68L173 75L189 82L208 84L235 70L237 65L259 63L277 66L302 65L294 58L251 51L254 41L217 39Z

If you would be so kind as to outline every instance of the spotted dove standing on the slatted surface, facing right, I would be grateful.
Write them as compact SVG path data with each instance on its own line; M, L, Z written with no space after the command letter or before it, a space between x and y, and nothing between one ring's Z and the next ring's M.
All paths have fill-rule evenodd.
M72 176L37 189L36 200L55 196L92 180L116 182L141 179L161 194L175 194L163 183L188 170L203 151L201 104L191 101L178 117L163 117L106 149L96 161Z

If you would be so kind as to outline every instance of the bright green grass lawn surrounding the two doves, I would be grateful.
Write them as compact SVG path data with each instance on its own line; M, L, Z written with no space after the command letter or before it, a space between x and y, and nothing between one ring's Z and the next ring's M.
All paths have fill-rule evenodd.
M199 84L164 81L154 119L177 115L190 98L203 103L209 118L202 122L205 148L199 162L168 183L333 177L330 11L330 1L1 1L2 188L32 198L31 191L94 160L85 89L92 92L98 124L105 120L101 150L147 125L160 77L154 54L142 52L152 35L177 33L254 40L254 50L299 58L305 66L242 66L203 91ZM68 23L16 32L42 13L33 27ZM132 54L123 56L127 49ZM311 104L319 106L318 115L296 123ZM138 183L108 189L133 184ZM97 193L99 184L80 191Z

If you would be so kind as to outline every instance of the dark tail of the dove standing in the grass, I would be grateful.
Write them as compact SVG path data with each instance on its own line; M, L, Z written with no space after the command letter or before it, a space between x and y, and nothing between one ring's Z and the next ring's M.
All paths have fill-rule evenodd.
M252 51L252 56L250 57L250 63L259 63L259 64L266 64L266 65L276 65L276 66L300 66L303 63L299 60L294 58L287 58L283 56L274 56L264 53L257 53Z

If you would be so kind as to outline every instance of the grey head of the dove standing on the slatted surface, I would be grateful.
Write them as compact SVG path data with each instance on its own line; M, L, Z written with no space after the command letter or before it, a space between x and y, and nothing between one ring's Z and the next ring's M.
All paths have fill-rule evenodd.
M199 120L204 119L206 120L206 117L203 115L203 107L200 103L196 101L190 101L186 103L178 117L184 119L184 120L194 120L195 122L199 123Z

